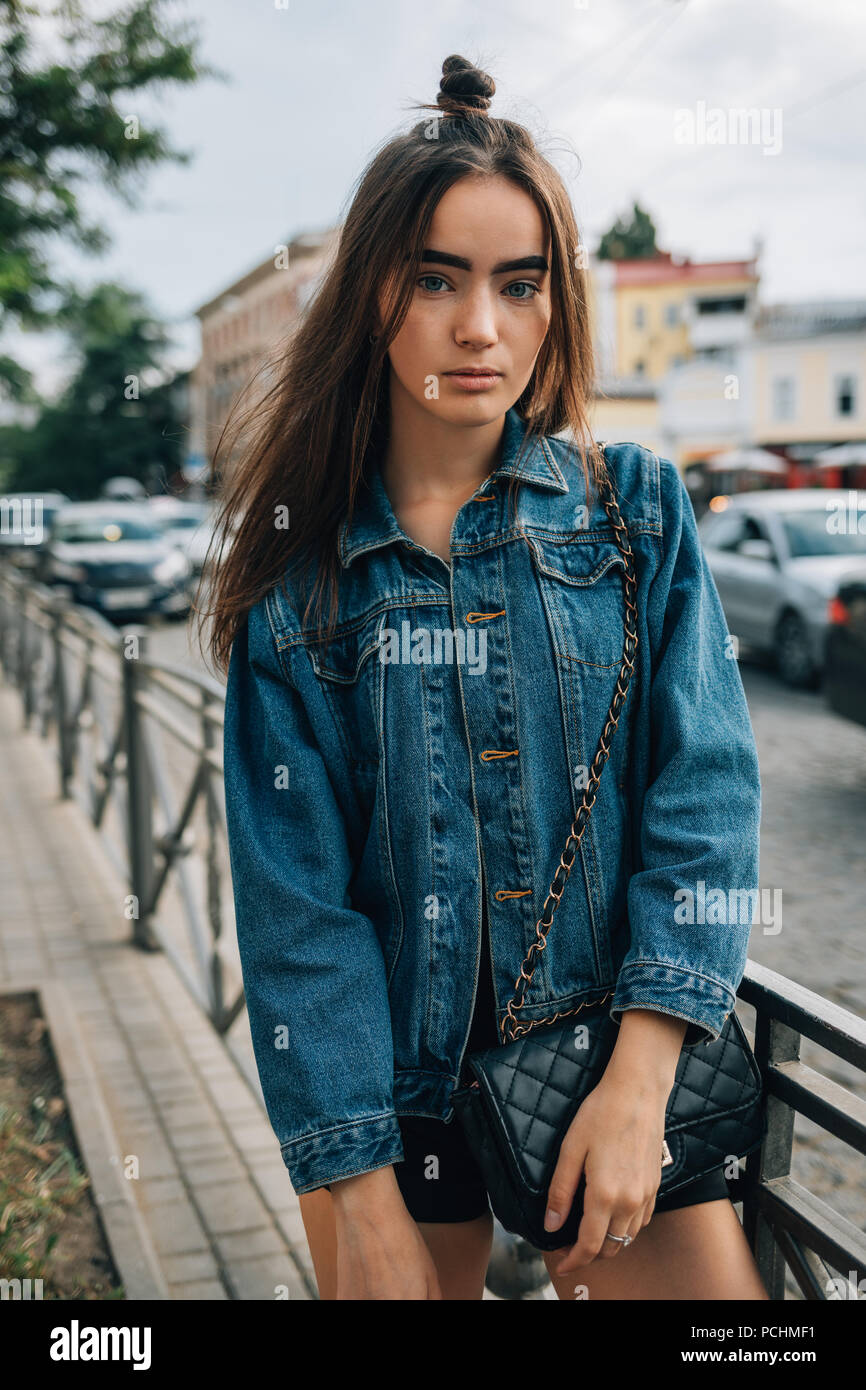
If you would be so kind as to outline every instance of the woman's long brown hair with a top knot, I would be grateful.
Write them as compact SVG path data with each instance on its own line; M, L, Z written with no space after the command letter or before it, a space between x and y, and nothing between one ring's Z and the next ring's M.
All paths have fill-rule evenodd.
M487 114L493 79L453 56L442 65L438 111L389 140L361 175L335 253L306 307L275 384L246 411L229 414L224 439L250 442L225 481L224 502L204 574L211 574L209 653L227 670L231 645L253 605L297 567L299 592L314 585L302 616L313 612L327 637L336 623L341 573L336 531L352 516L364 461L388 435L388 345L409 311L434 211L443 193L467 177L500 175L535 202L550 238L552 316L532 377L514 403L527 423L524 448L539 435L569 431L578 446L587 495L601 486L603 457L587 411L594 385L587 272L567 189L532 136L513 121ZM379 324L379 291L389 307ZM379 332L371 338L375 328ZM229 452L231 457L231 452ZM520 480L513 478L512 503ZM286 510L288 509L288 513ZM288 516L288 528L277 524ZM228 553L224 557L224 550ZM211 562L210 550L217 552Z

